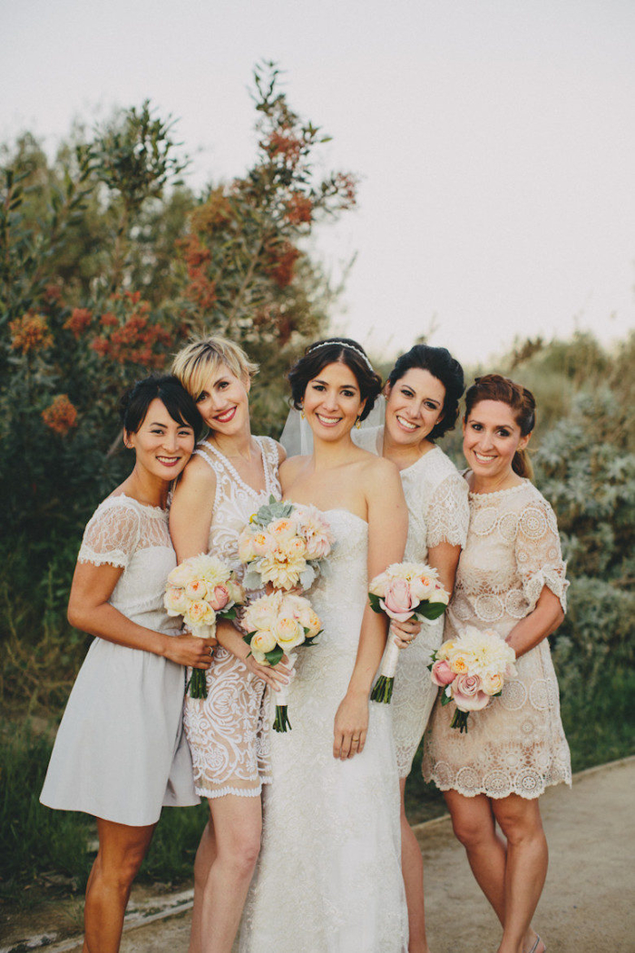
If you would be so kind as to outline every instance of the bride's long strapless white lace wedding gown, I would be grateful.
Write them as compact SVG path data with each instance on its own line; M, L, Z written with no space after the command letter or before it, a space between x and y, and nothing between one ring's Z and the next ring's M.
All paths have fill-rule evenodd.
M271 733L272 781L241 953L407 951L390 706L370 705L361 755L333 758L333 721L367 604L367 523L346 510L326 517L337 541L309 593L324 631L297 650L291 730Z

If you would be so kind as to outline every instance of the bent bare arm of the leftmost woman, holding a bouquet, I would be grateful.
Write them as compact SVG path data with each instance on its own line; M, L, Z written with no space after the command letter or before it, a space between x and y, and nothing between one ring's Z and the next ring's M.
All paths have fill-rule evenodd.
M209 646L213 640L155 632L133 622L109 604L122 573L123 569L117 566L78 562L70 588L70 624L116 645L151 652L179 665L208 668Z

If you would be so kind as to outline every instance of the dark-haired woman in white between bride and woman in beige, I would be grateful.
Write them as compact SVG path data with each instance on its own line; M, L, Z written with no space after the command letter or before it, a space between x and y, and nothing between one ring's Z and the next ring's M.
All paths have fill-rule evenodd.
M388 375L385 426L354 434L359 446L387 457L399 469L408 510L404 558L434 566L450 593L466 542L467 484L434 441L454 427L463 391L463 369L446 348L416 344ZM412 639L399 659L391 702L401 786L409 953L427 953L427 940L423 858L407 822L404 792L437 695L427 665L432 651L441 644L443 631L442 617L424 624Z

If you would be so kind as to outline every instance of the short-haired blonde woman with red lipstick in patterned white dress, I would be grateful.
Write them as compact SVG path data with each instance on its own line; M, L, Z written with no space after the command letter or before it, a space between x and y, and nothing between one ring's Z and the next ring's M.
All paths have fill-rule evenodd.
M213 553L240 569L238 535L269 497L280 498L284 450L251 436L248 393L257 366L236 344L208 337L184 348L172 370L209 428L176 489L169 528L179 560ZM186 696L184 721L196 792L210 811L194 867L191 953L229 953L260 849L261 793L269 781L260 740L266 682L284 669L258 665L228 622L208 670L208 698Z

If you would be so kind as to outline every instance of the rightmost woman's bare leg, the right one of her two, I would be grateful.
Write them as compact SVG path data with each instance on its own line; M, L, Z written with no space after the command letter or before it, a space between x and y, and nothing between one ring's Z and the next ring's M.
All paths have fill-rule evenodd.
M507 839L505 921L499 953L524 953L535 940L531 918L543 892L548 862L540 806L537 798L510 794L494 801L492 809Z

